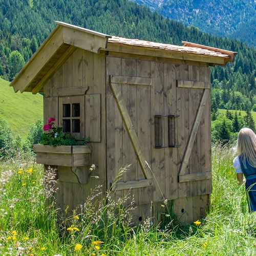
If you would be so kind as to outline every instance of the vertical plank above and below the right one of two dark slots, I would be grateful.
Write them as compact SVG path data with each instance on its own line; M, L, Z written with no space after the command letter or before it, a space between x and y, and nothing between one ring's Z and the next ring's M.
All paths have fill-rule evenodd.
M177 114L176 66L164 63L164 115ZM164 149L165 197L167 200L178 198L177 147Z

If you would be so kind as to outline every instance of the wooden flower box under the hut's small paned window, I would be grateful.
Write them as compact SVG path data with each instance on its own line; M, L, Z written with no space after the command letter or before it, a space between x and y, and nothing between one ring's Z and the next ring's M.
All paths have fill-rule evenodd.
M92 149L89 145L49 146L34 145L36 162L46 165L87 166L90 165Z

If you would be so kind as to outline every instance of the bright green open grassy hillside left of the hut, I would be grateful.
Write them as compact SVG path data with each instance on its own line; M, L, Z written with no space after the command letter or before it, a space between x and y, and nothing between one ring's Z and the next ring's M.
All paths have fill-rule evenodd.
M42 96L14 93L9 82L0 78L0 118L6 120L12 131L26 138L30 124L42 119Z

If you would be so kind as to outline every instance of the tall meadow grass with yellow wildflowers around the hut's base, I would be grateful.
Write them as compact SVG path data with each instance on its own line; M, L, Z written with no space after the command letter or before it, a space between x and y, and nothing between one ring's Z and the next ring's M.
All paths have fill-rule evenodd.
M237 184L232 158L228 148L213 147L210 209L200 225L181 226L170 215L158 227L148 220L139 228L131 225L132 205L124 208L109 196L108 205L101 200L95 209L92 199L101 196L100 187L74 216L57 225L42 186L42 166L34 164L33 158L2 161L0 254L254 255L255 214L248 213L245 189ZM47 191L54 190L53 174L46 172Z

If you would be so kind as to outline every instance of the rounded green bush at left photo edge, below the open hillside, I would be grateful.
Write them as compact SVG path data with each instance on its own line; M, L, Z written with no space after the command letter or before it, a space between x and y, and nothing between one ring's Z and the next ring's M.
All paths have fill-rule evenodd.
M12 155L14 138L8 124L0 119L0 159Z

